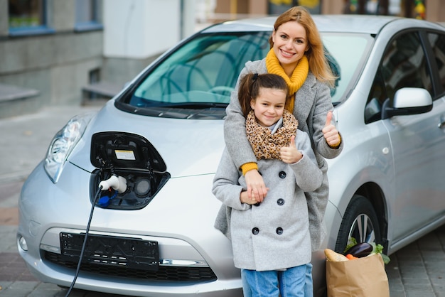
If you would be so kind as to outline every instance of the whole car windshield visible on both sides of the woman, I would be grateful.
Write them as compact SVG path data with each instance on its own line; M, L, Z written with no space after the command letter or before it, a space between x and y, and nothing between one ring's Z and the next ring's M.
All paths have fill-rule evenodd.
M124 93L117 106L156 117L223 118L230 92L248 60L269 51L269 31L203 33L166 55ZM329 64L338 77L333 104L345 99L368 57L370 36L323 33ZM215 115L216 113L216 115Z

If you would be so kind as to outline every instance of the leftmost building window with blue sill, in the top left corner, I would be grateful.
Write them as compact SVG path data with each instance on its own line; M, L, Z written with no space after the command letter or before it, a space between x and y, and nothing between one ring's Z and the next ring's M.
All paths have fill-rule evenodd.
M49 33L46 6L46 0L8 0L9 33Z

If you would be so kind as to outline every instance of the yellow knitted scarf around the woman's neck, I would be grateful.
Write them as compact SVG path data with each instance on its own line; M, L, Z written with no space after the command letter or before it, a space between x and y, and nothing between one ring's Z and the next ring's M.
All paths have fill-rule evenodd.
M299 88L304 84L306 77L308 77L309 73L309 61L306 55L299 60L299 63L296 65L294 72L292 72L291 77L286 75L282 65L279 64L279 60L274 53L274 49L271 48L269 53L266 56L266 68L267 72L279 75L286 80L286 84L289 87L289 97L286 101L286 110L289 112L294 112L294 102L295 102L295 92L299 90Z

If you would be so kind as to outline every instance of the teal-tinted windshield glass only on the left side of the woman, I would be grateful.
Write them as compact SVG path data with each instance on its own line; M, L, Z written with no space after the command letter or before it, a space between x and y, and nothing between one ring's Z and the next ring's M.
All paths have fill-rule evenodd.
M269 32L200 35L150 72L129 103L138 107L228 104L247 60L267 54L269 36Z

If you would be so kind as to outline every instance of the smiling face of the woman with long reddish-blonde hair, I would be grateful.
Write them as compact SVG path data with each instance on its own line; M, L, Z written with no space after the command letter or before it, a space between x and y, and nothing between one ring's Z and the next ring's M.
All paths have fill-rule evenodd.
M309 50L306 30L296 21L283 23L272 33L274 53L290 77L299 60Z

